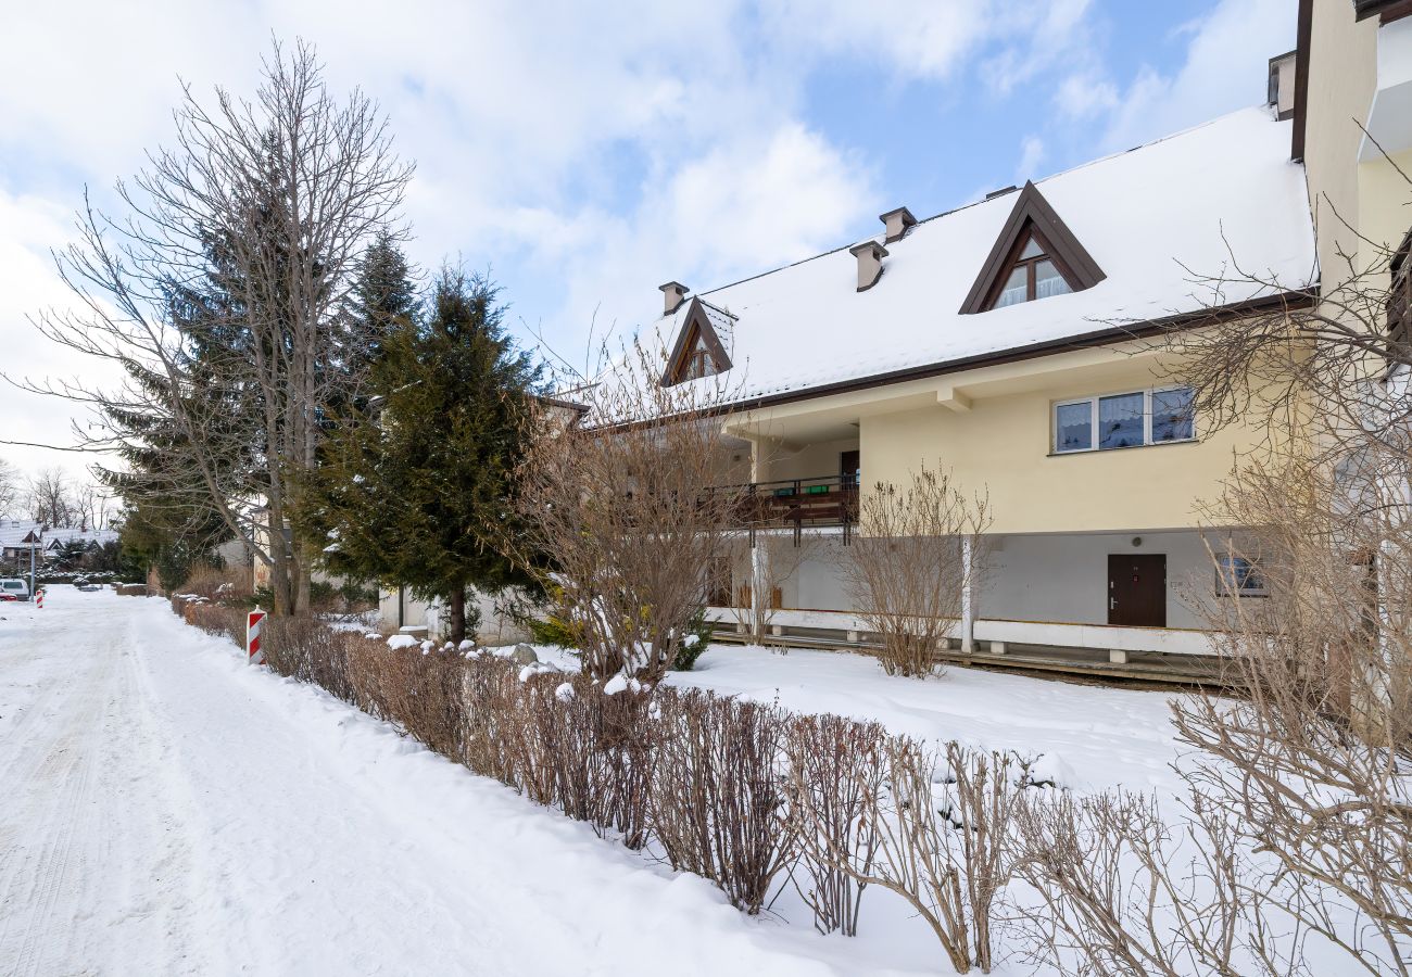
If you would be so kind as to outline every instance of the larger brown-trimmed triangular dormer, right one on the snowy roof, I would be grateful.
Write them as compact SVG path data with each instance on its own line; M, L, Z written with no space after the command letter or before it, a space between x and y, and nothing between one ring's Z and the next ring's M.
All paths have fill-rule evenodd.
M1079 292L1093 288L1103 278L1103 270L1039 189L1025 184L962 305L962 313Z

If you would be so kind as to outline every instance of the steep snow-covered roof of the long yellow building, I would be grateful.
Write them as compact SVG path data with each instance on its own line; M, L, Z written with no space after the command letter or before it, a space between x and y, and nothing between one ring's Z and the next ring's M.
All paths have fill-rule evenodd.
M857 291L847 247L696 295L727 346L736 397L808 391L899 370L1003 354L1120 323L1231 305L1276 289L1193 275L1231 261L1278 291L1317 281L1305 174L1291 121L1244 109L1155 143L1036 181L1106 278L1093 288L963 315L1001 233L1005 193L918 223L887 244L881 280ZM877 239L881 241L882 234ZM644 329L672 349L690 299Z

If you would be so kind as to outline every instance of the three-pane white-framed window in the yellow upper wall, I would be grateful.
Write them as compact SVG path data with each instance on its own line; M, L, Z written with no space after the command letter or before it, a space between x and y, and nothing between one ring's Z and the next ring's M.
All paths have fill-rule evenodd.
M1196 440L1190 387L1154 387L1053 405L1053 450L1106 452L1139 445Z

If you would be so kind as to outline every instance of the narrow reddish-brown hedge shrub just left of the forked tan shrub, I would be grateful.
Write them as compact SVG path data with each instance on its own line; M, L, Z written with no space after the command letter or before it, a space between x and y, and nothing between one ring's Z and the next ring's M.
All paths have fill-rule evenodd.
M884 778L885 730L840 716L789 723L789 812L809 882L799 888L820 933L858 932L858 906L878 843L874 815ZM801 885L795 878L796 887Z

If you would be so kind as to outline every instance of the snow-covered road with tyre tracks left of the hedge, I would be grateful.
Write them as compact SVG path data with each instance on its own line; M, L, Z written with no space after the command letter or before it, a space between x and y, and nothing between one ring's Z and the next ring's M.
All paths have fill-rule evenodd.
M0 974L854 974L877 949L746 919L164 601L0 604Z

